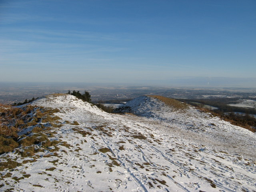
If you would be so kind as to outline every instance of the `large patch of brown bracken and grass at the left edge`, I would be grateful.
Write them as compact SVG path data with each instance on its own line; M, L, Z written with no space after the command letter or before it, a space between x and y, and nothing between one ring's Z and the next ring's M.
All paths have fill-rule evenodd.
M49 140L49 136L57 134L51 129L61 126L61 123L58 122L60 118L54 115L56 112L59 110L30 105L17 108L0 104L0 154L15 152L21 158L34 158L34 160L24 160L22 162L24 164L36 161L38 152L58 151L60 148L57 145L61 140ZM42 120L46 122L47 126L41 124ZM18 132L28 128L28 126L32 126L32 131L28 131L18 138ZM14 169L20 165L20 163L6 158L5 161L0 162L0 171ZM24 177L29 177L29 175ZM14 179L18 181L20 178Z

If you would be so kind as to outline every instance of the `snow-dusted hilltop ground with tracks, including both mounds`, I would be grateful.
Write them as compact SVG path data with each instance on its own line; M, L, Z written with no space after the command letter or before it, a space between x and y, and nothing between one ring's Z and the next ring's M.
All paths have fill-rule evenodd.
M42 132L58 142L47 148L38 142L33 147L42 150L27 157L2 154L0 191L255 190L255 134L194 108L174 110L146 96L126 104L128 112L140 116L107 114L71 95L32 104L59 109L55 126L38 122L47 124ZM240 134L238 140L247 137L250 145L237 142L237 150L244 145L252 156L231 147L220 150L226 149L224 137L232 134ZM212 142L220 144L214 148ZM5 168L2 162L13 166Z

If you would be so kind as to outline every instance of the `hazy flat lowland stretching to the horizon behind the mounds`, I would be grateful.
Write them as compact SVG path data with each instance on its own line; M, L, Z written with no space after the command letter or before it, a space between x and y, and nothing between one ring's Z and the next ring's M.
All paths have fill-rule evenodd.
M42 97L68 90L90 92L92 102L118 103L141 95L160 95L176 99L234 98L256 100L256 88L234 87L157 87L157 86L99 86L65 83L0 83L0 103L12 104L25 99ZM234 104L236 104L235 102ZM255 104L251 104L255 107Z

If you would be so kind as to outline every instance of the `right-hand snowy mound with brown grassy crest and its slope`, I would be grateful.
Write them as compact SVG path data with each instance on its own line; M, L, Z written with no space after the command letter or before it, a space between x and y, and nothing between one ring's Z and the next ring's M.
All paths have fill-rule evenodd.
M178 130L183 137L202 145L241 154L246 158L256 158L255 133L173 99L140 96L117 108L116 112L147 117L158 124L171 127L172 132Z

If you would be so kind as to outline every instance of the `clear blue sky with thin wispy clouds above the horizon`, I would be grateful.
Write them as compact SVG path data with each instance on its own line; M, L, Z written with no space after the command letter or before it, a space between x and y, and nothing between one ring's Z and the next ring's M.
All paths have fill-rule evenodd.
M0 0L0 82L256 78L255 0Z

